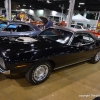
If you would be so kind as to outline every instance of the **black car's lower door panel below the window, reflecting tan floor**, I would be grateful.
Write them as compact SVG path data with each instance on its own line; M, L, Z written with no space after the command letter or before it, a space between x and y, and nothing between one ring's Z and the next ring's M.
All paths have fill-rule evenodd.
M94 43L86 46L68 46L66 55L67 64L80 62L93 56Z

